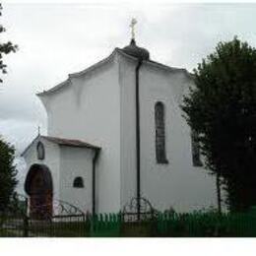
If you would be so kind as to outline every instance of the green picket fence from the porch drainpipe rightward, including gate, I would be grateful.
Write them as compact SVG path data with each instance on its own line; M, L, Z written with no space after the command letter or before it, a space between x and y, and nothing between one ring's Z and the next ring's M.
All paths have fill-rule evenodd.
M121 214L91 218L92 237L256 237L256 211L218 214L159 213L153 220L124 222Z

